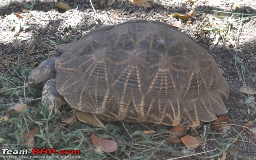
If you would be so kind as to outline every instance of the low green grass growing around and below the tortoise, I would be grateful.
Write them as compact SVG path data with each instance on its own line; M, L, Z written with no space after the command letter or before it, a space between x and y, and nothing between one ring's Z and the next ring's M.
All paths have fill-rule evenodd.
M239 32L232 33L232 25L234 22L241 24L246 20L243 13L228 13L236 15L235 21L229 19L222 20L224 24L221 28L211 26L210 30L206 28L199 28L200 31L214 31L215 34L220 34L223 28L226 28L224 34L221 34L219 41L222 41L225 45L227 39L225 36L230 35L236 37L236 43L239 42ZM206 16L207 15L202 15ZM232 16L233 17L233 16ZM230 17L231 18L231 17ZM207 18L207 20L209 20ZM205 21L203 25L209 21ZM98 22L99 23L99 22ZM95 23L96 25L96 23ZM74 28L70 28L73 29ZM42 57L46 57L46 51L51 51L54 44L63 44L66 42L72 42L74 37L81 37L81 31L75 30L76 35L70 37L57 37L54 42L47 42L42 45L42 42L37 42L39 46L34 52L43 51L44 54L38 57L31 56L30 59L25 59L24 64L10 63L6 73L0 76L0 143L1 144L21 144L26 141L23 133L29 133L32 129L38 128L38 133L34 135L33 141L26 141L29 144L27 147L10 147L9 149L29 149L29 148L55 148L57 150L80 150L79 156L82 159L90 160L154 160L159 157L173 158L182 156L191 156L192 154L198 154L196 150L187 149L182 144L172 144L167 141L169 135L170 126L156 125L156 124L126 124L119 122L105 122L104 128L99 129L88 124L84 124L80 121L75 121L71 124L64 124L62 121L72 115L71 109L64 106L61 110L61 115L55 115L52 113L47 106L41 104L41 92L34 90L26 85L27 77L30 71L35 68L32 67L30 62L41 62ZM36 39L36 38L35 38ZM41 39L45 41L47 39ZM39 49L40 48L40 49ZM244 72L249 73L247 66L244 62L241 62L242 56L239 56L238 50L234 48L226 47L231 54L233 54L237 73L243 82ZM11 48L9 48L11 50ZM15 56L11 54L10 50L6 50L6 56ZM24 51L23 53L25 53ZM3 57L2 57L3 58ZM5 58L5 57L4 57ZM249 73L250 74L250 73ZM255 80L253 80L255 83ZM15 104L26 103L27 108L22 112L12 110L8 116L6 112L9 108L15 106ZM6 119L3 119L6 118ZM192 135L198 136L201 139L201 152L200 157L206 159L214 158L220 159L224 152L228 153L228 156L233 156L233 160L242 159L247 157L241 157L237 149L246 151L245 143L247 142L243 138L244 132L242 126L235 124L236 122L230 123L230 131L232 130L236 135L230 136L227 133L218 133L215 131L211 123L207 124L206 128L202 128ZM154 130L156 133L151 135L144 135L143 131ZM111 139L116 141L117 150L113 153L97 154L96 148L93 146L91 135L95 134L105 139ZM183 135L191 134L189 129ZM242 143L242 146L237 145L236 141ZM207 144L214 143L217 148L214 151L207 152ZM253 143L256 146L255 143ZM231 152L232 151L232 152ZM3 158L2 152L0 157ZM195 155L195 158L199 155ZM8 158L6 158L8 159ZM9 158L10 160L12 158ZM17 158L16 158L17 159ZM33 159L33 158L32 158ZM40 158L39 158L40 159ZM41 158L44 159L44 158ZM55 158L49 158L49 160ZM60 157L58 159L63 159ZM68 158L72 159L72 158Z

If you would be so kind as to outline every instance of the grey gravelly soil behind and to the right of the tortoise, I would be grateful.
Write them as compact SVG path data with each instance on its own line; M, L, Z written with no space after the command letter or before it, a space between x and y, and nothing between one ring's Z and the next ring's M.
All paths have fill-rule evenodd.
M1 74L15 74L9 72L10 68L15 66L18 70L20 65L24 63L28 66L37 66L44 59L47 59L48 52L54 48L58 39L62 38L67 42L76 41L81 35L88 32L89 26L95 23L96 19L101 20L103 25L119 24L131 19L157 20L170 25L179 21L181 31L206 48L215 59L218 67L224 70L224 77L230 87L230 97L226 103L229 112L223 116L229 118L230 123L234 124L232 129L228 131L226 138L235 138L237 132L242 131L242 126L248 121L256 120L253 108L244 102L240 108L237 108L234 104L243 98L238 91L242 86L246 85L256 90L255 0L245 0L244 2L236 0L185 0L184 6L187 11L194 11L194 14L188 20L172 17L174 13L185 14L186 12L179 0L166 0L167 3L151 0L149 2L152 8L134 6L122 0L116 0L112 6L108 6L108 2L102 5L100 0L93 0L93 6L97 14L93 11L88 0L63 1L71 7L68 11L57 8L56 0L38 0L30 11L22 11L23 5L29 4L29 2L29 0L2 0L0 3ZM223 18L210 17L213 10L230 13L221 13L221 15L227 16ZM6 25L6 16L15 12L23 16L23 19L20 19L21 26L30 27L26 31L21 28L18 36L15 36L17 33L15 28ZM247 18L247 14L254 14L254 17ZM241 19L243 19L242 22ZM47 28L49 22L54 25L49 25ZM203 31L205 31L204 38L201 34ZM39 35L41 37L36 41ZM223 37L218 38L218 35ZM239 37L239 41L237 41L237 37ZM32 42L35 42L33 52L26 53ZM21 54L22 51L25 51L25 53ZM241 76L239 77L239 75ZM248 112L248 109L250 109L250 112ZM230 147L230 150L241 156L238 159L256 160L256 140L246 132L242 132L239 141L232 145L233 147ZM217 148L217 144L209 142L205 147L212 150ZM195 150L195 153L199 152L203 152L203 149ZM161 160L169 157L172 156L159 154L157 158ZM199 159L199 157L181 159ZM228 154L226 157L226 160L233 159L232 154Z

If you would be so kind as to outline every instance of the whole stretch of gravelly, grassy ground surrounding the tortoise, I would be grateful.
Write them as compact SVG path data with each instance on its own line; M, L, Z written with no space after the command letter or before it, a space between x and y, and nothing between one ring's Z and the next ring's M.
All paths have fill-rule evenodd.
M226 160L256 160L256 139L242 129L247 122L256 121L255 110L244 102L240 108L234 104L241 98L249 101L239 94L240 87L246 85L256 89L255 0L185 0L184 6L179 0L151 0L149 2L152 8L134 6L122 0L116 0L112 6L105 7L107 2L102 5L100 0L93 0L97 17L88 0L63 2L69 4L71 10L58 9L55 0L38 0L34 4L29 0L1 0L0 118L15 104L26 102L29 106L21 113L10 114L9 120L1 119L1 144L21 144L23 142L20 135L38 127L39 131L31 143L34 148L52 146L56 149L80 149L81 159L165 160L216 149L180 159L217 160L226 152ZM33 6L26 6L29 4ZM25 6L31 10L23 12L22 7ZM172 17L174 13L185 14L185 8L194 13L189 20ZM15 12L23 16L23 19L20 19L18 36L15 36L18 20L11 16ZM213 13L223 17L212 17ZM175 145L166 141L168 133L165 131L169 131L170 126L106 123L105 129L97 129L82 123L64 126L61 121L67 116L64 111L62 117L54 114L48 117L48 109L41 103L38 104L40 100L35 99L40 98L40 91L26 86L27 76L32 68L47 59L48 52L54 50L55 44L76 41L88 32L91 24L97 23L96 19L101 20L103 25L111 25L111 21L118 24L131 19L164 21L170 25L179 21L181 31L206 48L218 67L225 72L224 77L230 87L230 98L226 103L229 112L224 116L231 120L230 129L222 135L209 123L205 131L204 128L198 129L204 143L195 150L188 150L183 144ZM49 22L54 25L47 26ZM34 43L35 48L29 48ZM143 135L142 131L148 129L153 129L158 134ZM96 154L90 139L92 133L116 140L117 151L111 154ZM191 134L195 135L195 132L187 130L184 135ZM0 152L0 158L3 156ZM221 160L225 159L222 158Z

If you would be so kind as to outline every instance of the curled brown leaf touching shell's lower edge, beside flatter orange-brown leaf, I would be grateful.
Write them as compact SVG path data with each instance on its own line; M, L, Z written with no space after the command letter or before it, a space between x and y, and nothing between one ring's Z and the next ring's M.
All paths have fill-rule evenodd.
M180 136L185 130L184 126L174 126L169 133L168 141L172 143L180 143Z

